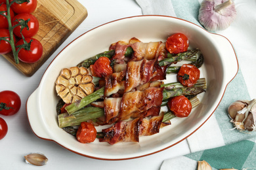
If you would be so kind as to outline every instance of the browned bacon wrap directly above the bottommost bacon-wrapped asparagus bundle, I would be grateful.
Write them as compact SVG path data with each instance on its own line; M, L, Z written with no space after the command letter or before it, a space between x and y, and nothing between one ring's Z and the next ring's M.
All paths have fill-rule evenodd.
M158 107L161 106L162 99L163 88L158 87L149 87L143 91L137 90L124 93L123 97L105 98L104 113L106 124L131 117L158 115L160 112Z

